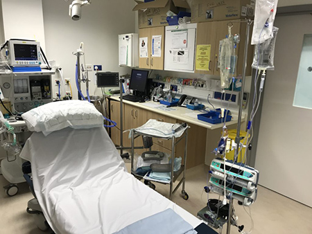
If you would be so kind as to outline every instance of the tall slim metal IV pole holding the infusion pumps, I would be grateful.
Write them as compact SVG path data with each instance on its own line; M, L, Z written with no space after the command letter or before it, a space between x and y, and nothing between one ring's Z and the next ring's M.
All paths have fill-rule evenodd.
M243 114L243 93L245 89L245 79L246 79L246 68L247 68L247 55L248 55L248 44L249 44L249 37L250 37L250 26L252 24L252 21L250 19L247 20L247 28L246 28L246 40L245 40L245 53L244 53L244 62L243 62L243 84L241 87L241 100L239 104L239 119L237 123L237 130L236 130L236 138L235 143L237 147L235 148L235 154L239 154L239 143L241 142L240 132L241 132L241 116ZM231 231L231 217L232 217L232 211L233 211L233 199L229 199L229 216L227 217L227 234Z

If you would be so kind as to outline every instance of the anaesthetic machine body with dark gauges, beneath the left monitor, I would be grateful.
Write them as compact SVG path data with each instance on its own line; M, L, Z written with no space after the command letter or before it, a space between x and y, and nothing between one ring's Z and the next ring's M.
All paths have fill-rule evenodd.
M8 98L14 111L26 112L52 102L51 77L55 72L0 73L4 98Z

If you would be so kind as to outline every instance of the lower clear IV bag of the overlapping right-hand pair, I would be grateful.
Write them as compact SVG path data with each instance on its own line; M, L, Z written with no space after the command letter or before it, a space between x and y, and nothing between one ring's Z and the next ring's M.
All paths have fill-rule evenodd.
M278 30L279 28L273 27L273 37L255 46L252 68L261 70L274 70L274 51Z

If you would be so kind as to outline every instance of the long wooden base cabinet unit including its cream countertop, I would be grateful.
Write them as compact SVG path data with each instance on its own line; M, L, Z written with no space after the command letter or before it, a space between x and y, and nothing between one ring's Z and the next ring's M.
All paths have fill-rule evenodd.
M120 103L119 96L111 96L107 98L109 101L109 113L110 118L116 121L117 126L120 119ZM211 160L215 155L211 154L214 148L218 145L220 140L220 132L222 131L222 124L210 124L202 120L197 119L197 114L202 114L200 111L192 111L185 107L170 107L165 108L165 105L161 105L158 102L130 102L123 100L123 129L132 129L139 127L146 123L150 118L157 119L168 123L182 123L186 122L191 127L189 129L189 141L187 154L187 168L192 168L196 165L205 163L210 165ZM169 111L168 109L171 109ZM232 111L232 120L227 122L228 129L235 129L238 123L238 114ZM245 116L243 115L242 125L245 123ZM113 128L111 132L112 141L115 145L119 145L120 132L118 129ZM137 141L141 139L137 138ZM128 139L128 133L123 134L123 145L130 146L130 140ZM139 145L139 143L136 143ZM162 140L155 140L153 145L154 150L163 152L170 152L171 145L169 142ZM180 148L177 147L175 156L180 156ZM141 153L140 150L137 152Z

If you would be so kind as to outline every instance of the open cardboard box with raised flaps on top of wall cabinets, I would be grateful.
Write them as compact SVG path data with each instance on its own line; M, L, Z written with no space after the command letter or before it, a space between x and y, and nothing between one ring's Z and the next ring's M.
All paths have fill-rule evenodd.
M167 12L177 14L179 10L189 9L187 1L182 0L155 0L150 2L135 1L137 6L133 10L139 11L139 28L168 26Z

